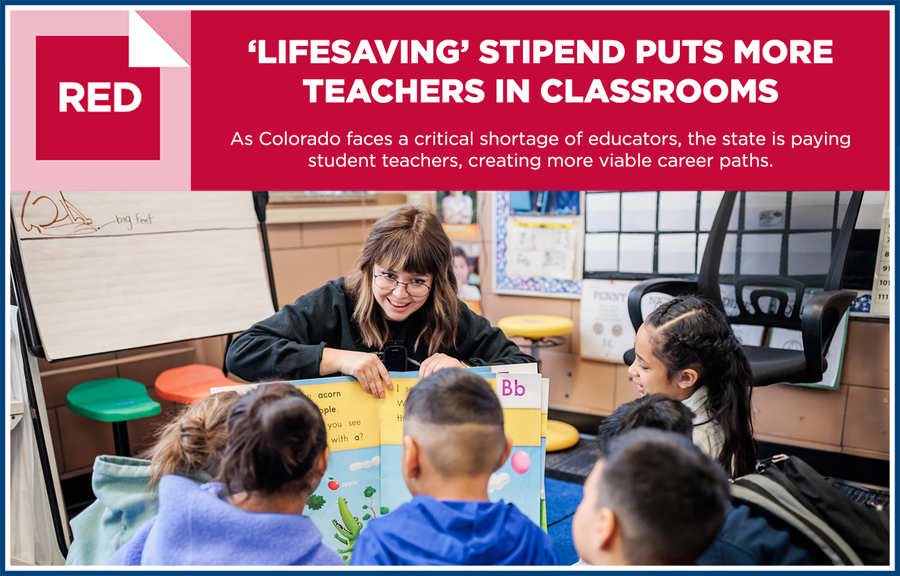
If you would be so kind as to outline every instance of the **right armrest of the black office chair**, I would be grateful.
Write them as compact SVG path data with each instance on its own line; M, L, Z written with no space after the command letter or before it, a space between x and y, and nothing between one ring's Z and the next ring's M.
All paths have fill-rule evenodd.
M810 383L822 380L822 357L832 343L834 329L856 299L856 295L856 291L853 290L833 290L818 293L806 302L800 326Z

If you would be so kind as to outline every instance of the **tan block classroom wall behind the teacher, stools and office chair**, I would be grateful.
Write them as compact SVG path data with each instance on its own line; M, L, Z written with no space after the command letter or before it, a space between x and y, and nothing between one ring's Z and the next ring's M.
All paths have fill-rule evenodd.
M484 202L487 194L481 194ZM270 208L278 210L278 208ZM482 213L487 213L482 211ZM492 238L491 219L482 221L482 238ZM341 275L354 266L372 220L342 222L279 223L269 226L269 241L280 305ZM487 249L489 244L482 246ZM541 313L564 316L575 322L563 346L543 349L544 373L551 380L550 406L557 410L607 415L620 404L637 397L625 365L603 363L580 356L580 302L491 293L490 252L482 254L482 307L496 325L504 316ZM757 436L794 446L887 459L889 445L889 329L885 321L850 322L841 386L824 391L776 385L754 391L753 412ZM528 350L530 344L517 339ZM130 362L144 354L162 356ZM47 400L49 428L63 478L87 473L94 457L112 454L112 427L81 417L66 408L66 392L76 383L121 376L152 388L167 368L194 362L221 365L224 338L205 338L160 347L141 348L115 355L94 356L49 365L40 362L41 381ZM98 363L110 363L101 365ZM146 446L149 435L175 410L160 401L163 415L129 423L132 451Z

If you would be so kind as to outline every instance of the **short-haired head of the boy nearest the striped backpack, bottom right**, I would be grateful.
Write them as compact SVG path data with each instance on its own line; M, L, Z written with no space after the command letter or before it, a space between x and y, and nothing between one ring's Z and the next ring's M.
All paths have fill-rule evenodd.
M632 430L609 443L600 466L595 509L615 515L631 565L694 563L725 523L725 472L686 437Z

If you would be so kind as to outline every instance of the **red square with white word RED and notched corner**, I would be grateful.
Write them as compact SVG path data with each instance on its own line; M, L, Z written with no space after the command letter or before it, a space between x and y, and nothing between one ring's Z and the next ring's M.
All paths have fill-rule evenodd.
M159 68L127 36L38 36L38 160L158 160Z

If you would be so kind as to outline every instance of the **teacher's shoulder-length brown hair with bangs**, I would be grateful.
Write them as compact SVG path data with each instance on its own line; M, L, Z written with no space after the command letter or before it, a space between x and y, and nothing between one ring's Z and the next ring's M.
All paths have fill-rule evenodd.
M372 225L356 270L347 278L347 292L355 303L353 320L367 347L381 348L388 339L388 324L372 291L374 266L407 274L434 276L431 292L421 310L425 316L416 338L428 334L428 356L456 342L459 300L453 271L453 245L437 212L421 206L401 206Z

